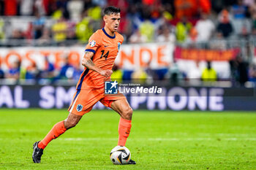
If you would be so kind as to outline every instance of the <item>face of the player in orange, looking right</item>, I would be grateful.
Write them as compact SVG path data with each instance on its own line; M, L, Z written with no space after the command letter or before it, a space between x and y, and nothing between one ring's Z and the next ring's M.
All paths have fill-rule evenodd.
M105 26L112 32L116 32L120 23L120 13L112 13L104 16Z

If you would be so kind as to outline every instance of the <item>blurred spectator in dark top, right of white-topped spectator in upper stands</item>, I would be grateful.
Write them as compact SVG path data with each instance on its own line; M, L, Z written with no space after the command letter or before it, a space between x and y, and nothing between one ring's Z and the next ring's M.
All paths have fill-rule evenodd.
M230 23L229 13L226 9L222 10L219 17L219 23L217 25L217 31L227 38L233 32L233 26Z

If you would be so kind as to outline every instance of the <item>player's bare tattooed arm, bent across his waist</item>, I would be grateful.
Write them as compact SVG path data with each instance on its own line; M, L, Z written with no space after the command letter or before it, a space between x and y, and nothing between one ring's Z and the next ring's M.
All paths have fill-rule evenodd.
M90 51L86 51L86 53L83 55L82 65L85 66L87 69L91 69L94 72L98 72L102 76L110 77L110 75L112 74L112 70L109 70L109 69L104 70L96 66L94 62L91 60L93 55L94 53Z

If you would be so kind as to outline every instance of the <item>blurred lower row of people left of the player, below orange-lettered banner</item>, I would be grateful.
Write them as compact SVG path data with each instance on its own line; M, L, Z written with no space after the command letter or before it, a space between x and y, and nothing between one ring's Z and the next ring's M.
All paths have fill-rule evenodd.
M64 84L67 85L67 83L75 84L82 72L80 63L71 64L68 56L64 56L61 66L56 66L49 61L46 55L44 69L38 69L35 62L24 67L20 61L15 60L10 63L10 68L6 72L0 67L0 79L3 83L39 83L42 85L61 83L61 80L64 80Z

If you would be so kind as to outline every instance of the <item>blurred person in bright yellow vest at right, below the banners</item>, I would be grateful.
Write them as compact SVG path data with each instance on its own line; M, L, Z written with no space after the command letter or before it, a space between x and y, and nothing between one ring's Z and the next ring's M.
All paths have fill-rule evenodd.
M211 61L207 61L206 69L203 69L202 73L203 82L215 82L217 81L217 72L211 67Z

